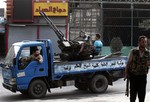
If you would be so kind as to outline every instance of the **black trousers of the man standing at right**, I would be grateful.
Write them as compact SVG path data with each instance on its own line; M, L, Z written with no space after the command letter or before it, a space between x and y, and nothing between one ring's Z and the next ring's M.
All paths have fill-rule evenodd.
M144 102L146 95L147 75L130 76L130 102L135 102L138 95L139 102Z

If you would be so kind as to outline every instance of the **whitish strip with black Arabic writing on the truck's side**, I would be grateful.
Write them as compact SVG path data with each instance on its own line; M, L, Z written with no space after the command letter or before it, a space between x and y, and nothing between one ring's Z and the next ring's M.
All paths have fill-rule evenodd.
M116 59L116 60L99 60L99 61L89 61L89 62L79 62L72 64L56 64L54 66L55 74L77 72L77 71L87 71L87 70L117 70L125 68L126 59Z

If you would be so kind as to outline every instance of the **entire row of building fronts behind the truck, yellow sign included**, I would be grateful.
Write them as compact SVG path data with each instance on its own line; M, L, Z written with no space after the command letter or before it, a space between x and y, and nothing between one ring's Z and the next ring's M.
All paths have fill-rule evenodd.
M74 40L80 31L100 33L104 46L119 37L124 46L136 46L140 35L150 38L150 0L7 0L5 52L23 40L51 39L54 50L58 37L39 11L44 11ZM28 6L26 6L28 5Z

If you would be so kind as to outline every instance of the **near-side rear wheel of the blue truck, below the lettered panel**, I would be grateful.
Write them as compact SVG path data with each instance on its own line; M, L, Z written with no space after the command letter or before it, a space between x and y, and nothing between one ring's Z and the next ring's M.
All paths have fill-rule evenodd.
M104 75L96 75L90 82L90 91L94 93L103 93L108 88L108 80Z

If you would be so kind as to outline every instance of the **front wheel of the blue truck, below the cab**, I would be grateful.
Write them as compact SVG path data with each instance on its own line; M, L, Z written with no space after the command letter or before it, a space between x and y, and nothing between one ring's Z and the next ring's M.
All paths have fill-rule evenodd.
M46 95L47 86L42 80L34 80L29 86L28 93L32 98L42 98Z

